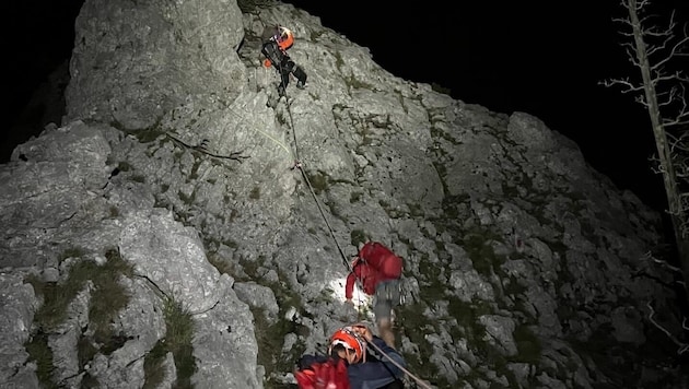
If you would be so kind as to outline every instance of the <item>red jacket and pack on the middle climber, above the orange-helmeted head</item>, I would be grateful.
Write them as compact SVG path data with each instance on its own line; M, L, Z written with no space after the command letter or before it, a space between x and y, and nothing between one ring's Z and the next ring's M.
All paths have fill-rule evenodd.
M357 280L361 280L363 292L372 296L378 282L399 279L401 275L401 258L377 241L366 243L358 257L360 260L354 262L352 272L347 276L344 298L352 298Z

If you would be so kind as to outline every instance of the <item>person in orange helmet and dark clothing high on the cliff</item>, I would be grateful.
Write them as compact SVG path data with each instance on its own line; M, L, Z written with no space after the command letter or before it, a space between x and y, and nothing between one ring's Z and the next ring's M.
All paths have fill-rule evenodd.
M296 87L306 87L306 73L288 56L287 50L294 45L294 34L290 28L275 25L266 26L262 34L260 52L266 57L264 66L273 66L280 74L281 82L278 85L278 94L284 96L284 91L290 83L290 74L297 80Z

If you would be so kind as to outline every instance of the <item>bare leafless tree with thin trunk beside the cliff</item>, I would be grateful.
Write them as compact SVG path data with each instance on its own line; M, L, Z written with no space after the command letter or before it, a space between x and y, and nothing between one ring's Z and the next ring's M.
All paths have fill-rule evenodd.
M606 86L620 85L622 93L635 95L651 119L657 160L654 168L663 175L677 252L689 298L689 79L681 68L680 57L689 56L689 35L685 24L681 35L675 13L667 27L658 27L657 15L646 14L649 0L621 0L628 17L614 19L622 23L626 38L622 47L630 62L641 72L641 81L608 80Z

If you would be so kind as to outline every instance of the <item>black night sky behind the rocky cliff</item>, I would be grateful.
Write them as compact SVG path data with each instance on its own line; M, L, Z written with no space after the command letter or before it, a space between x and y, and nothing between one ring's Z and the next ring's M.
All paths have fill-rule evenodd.
M4 73L11 103L3 109L10 121L47 74L69 58L82 2L24 0L3 11L3 39L11 52ZM598 84L638 76L619 46L621 25L611 21L624 15L619 2L285 2L370 48L374 61L397 76L435 83L454 98L493 111L519 110L540 118L574 140L586 161L619 188L631 189L658 210L665 207L661 177L647 161L655 143L643 107L618 89ZM663 3L689 20L689 1ZM308 72L308 63L300 64ZM12 149L7 128L0 162Z

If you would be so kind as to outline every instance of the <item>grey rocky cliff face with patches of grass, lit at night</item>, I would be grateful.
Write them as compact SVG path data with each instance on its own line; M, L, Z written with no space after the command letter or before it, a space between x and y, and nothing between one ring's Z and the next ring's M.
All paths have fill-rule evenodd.
M308 73L289 101L259 58L276 23ZM1 381L294 382L371 319L342 302L370 238L405 259L398 349L433 386L687 387L647 320L681 334L658 214L538 118L398 79L280 3L87 0L75 31L63 126L0 166Z

